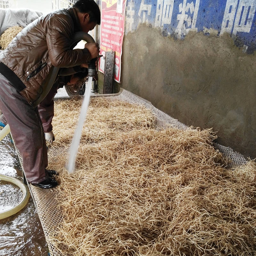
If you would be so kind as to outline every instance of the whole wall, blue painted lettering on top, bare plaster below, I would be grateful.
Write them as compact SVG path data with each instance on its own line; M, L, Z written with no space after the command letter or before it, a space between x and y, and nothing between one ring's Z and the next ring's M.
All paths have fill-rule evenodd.
M256 158L255 9L255 0L128 0L114 92L213 128L218 143Z

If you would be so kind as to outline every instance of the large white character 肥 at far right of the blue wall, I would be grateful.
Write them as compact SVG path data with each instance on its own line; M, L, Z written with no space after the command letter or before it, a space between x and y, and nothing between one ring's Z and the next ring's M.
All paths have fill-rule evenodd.
M220 35L231 34L234 39L237 32L249 33L256 10L256 0L228 0L222 20ZM233 28L233 31L232 31Z

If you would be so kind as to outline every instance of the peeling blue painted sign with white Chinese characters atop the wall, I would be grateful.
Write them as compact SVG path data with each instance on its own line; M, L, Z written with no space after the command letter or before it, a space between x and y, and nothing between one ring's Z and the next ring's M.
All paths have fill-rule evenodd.
M127 0L125 33L140 23L184 39L190 30L228 33L244 52L256 50L256 0Z

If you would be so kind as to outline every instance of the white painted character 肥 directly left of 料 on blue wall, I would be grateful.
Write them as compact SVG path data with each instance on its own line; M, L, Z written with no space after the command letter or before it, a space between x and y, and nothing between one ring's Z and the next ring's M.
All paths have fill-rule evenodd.
M174 0L157 0L155 27L171 24Z

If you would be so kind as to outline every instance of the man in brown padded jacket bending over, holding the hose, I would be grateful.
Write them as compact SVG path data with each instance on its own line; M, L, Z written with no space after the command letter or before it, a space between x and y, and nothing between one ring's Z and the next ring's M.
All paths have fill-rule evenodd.
M71 50L73 34L88 33L100 24L100 9L94 0L79 0L73 7L38 18L24 28L0 57L0 109L3 112L29 183L38 188L58 185L47 171L44 130L34 102L52 66L74 67L74 73L99 55L99 45L86 44ZM49 177L49 175L51 177Z

